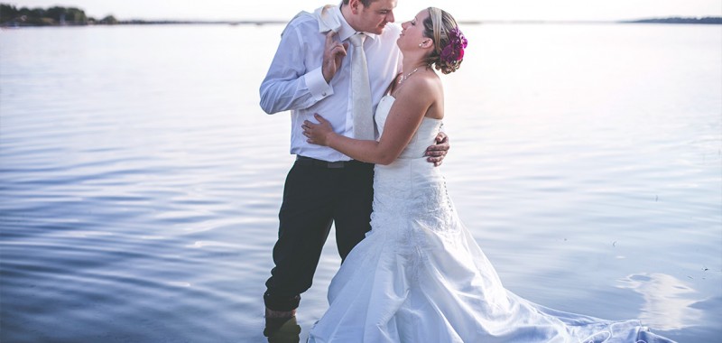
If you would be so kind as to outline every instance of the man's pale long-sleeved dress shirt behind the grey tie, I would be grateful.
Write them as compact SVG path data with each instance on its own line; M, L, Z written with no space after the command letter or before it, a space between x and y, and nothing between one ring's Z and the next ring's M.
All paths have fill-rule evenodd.
M350 82L354 48L349 42L347 56L327 83L321 73L321 63L329 29L338 32L340 42L348 42L356 33L338 6L325 6L314 14L302 12L288 23L261 84L261 107L268 114L291 110L292 154L330 162L348 161L348 156L328 146L307 143L301 129L304 120L316 122L313 114L318 113L329 120L337 133L354 137ZM366 33L364 51L371 86L371 113L401 71L402 55L396 46L400 32L398 25L389 23L382 34Z

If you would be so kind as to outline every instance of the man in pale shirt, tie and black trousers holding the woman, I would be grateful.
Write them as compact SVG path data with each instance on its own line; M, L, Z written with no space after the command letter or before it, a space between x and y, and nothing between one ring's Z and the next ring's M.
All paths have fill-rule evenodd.
M362 92L353 85L351 65L362 55L357 49L363 49L371 107L366 122L372 130L369 139L374 139L371 114L401 71L402 56L396 46L401 30L386 25L394 21L395 6L396 0L344 0L340 7L326 5L313 14L301 12L282 32L261 84L261 107L268 114L291 110L291 153L297 156L286 178L278 216L275 267L264 293L267 320L295 315L301 293L310 288L332 223L336 223L342 261L371 228L374 165L307 143L301 124L319 113L337 132L359 137L354 98ZM357 32L364 36L359 48L349 42ZM440 134L437 142L426 153L435 165L449 150L446 134Z

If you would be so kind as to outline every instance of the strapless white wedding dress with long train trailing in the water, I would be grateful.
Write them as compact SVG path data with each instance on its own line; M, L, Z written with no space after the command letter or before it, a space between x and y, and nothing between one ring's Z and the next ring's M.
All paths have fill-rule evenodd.
M376 109L380 132L393 101ZM333 278L309 342L671 342L637 320L553 311L505 290L423 157L440 125L425 117L395 162L375 166L372 230Z

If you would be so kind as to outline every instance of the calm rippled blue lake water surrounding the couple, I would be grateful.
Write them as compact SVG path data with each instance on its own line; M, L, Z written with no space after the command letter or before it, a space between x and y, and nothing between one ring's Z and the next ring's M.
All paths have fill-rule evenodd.
M0 340L264 342L282 25L0 31ZM485 24L441 167L505 286L722 337L722 26ZM302 295L327 308L333 235Z

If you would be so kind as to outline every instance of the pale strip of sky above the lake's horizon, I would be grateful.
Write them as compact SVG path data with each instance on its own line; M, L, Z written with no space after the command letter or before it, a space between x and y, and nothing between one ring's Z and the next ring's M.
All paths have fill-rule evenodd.
M20 7L79 7L100 19L290 20L301 10L337 0L6 0ZM667 16L722 16L722 0L398 0L397 22L422 8L440 7L457 20L608 21Z

